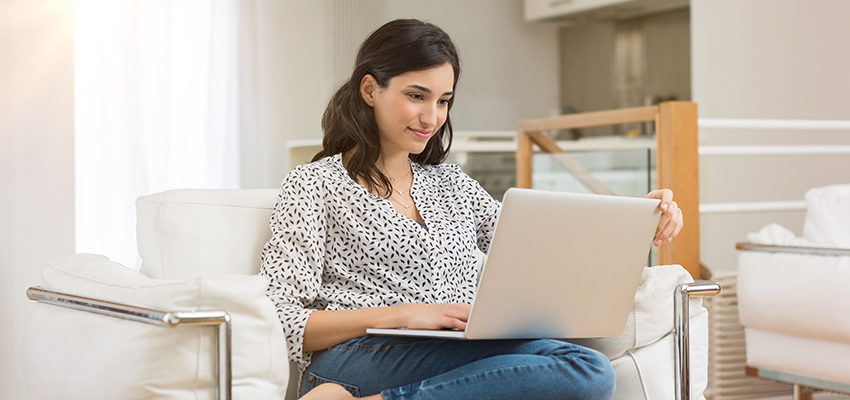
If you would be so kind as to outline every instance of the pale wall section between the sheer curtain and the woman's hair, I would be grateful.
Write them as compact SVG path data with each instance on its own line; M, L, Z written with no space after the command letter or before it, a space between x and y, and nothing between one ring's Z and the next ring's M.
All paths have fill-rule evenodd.
M240 174L245 188L277 187L287 141L320 138L337 85L327 32L329 1L240 3Z

